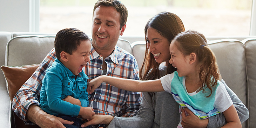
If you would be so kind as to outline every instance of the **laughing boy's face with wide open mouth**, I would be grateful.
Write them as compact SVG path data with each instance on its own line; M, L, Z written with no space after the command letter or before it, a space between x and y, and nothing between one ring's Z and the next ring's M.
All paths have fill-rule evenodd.
M90 41L83 40L72 55L67 54L68 61L65 66L71 70L74 75L78 75L82 72L83 66L87 65L88 61L90 61L90 48Z

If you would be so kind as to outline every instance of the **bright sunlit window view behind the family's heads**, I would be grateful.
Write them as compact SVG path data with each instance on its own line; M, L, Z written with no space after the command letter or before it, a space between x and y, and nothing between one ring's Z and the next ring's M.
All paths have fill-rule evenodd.
M97 0L40 0L39 32L75 27L91 35ZM123 36L143 36L147 21L159 12L177 14L187 29L206 36L249 35L252 0L120 0L128 9Z

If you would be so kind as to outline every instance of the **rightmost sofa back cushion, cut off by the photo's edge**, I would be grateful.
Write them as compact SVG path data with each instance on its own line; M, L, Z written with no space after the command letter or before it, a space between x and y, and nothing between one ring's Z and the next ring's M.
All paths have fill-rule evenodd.
M249 127L256 126L256 38L243 40L247 63Z

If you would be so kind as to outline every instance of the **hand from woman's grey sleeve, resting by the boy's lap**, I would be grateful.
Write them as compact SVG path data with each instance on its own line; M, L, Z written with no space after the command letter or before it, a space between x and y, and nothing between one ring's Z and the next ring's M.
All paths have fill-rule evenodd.
M86 127L89 125L96 125L96 124L109 124L114 119L111 115L94 115L90 117L88 122L85 122L81 125L81 127Z

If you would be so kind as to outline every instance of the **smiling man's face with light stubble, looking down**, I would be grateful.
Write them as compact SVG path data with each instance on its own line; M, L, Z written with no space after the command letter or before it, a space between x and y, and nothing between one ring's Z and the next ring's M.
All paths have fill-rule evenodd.
M120 30L120 14L114 7L99 6L94 11L92 22L92 45L97 50L113 50L119 35L123 35L124 25Z

